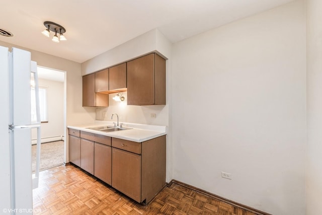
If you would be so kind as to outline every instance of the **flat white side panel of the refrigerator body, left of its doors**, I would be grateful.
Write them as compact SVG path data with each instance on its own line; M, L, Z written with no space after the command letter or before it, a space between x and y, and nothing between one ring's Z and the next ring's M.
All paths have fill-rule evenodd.
M0 208L11 207L9 141L9 52L0 46Z

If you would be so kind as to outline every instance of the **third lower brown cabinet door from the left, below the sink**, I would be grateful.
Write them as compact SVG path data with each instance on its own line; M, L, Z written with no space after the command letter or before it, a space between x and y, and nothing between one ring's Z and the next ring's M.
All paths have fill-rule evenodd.
M95 142L94 175L111 185L112 148Z

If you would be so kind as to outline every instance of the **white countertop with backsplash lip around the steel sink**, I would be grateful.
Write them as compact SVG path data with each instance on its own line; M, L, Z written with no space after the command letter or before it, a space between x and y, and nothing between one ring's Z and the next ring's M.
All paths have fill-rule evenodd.
M69 125L67 127L77 129L77 130L97 133L105 136L126 139L130 141L135 141L135 142L143 142L143 141L167 134L167 126L145 125L145 124L135 124L135 123L125 123L125 122L123 123L123 127L132 128L132 129L112 131L112 132L104 132L104 131L89 129L89 127L96 127L96 126L103 126L103 125L113 125L113 122L97 120L93 124Z

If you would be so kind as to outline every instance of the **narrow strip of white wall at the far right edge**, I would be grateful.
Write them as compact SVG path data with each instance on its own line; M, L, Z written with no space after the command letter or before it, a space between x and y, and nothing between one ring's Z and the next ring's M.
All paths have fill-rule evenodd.
M306 0L306 214L322 214L322 1Z

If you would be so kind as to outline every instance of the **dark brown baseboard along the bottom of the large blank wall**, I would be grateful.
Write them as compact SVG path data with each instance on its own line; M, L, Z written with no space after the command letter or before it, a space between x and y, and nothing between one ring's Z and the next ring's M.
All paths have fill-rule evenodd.
M202 190L202 189L200 189L200 188L198 188L198 187L194 187L194 186L189 185L189 184L186 184L186 183L184 183L184 182L177 181L177 180L175 180L175 179L172 179L169 183L167 182L166 184L167 184L167 186L168 186L168 187L170 187L173 183L178 184L178 185L181 185L181 186L186 187L186 188L188 188L188 189L194 190L194 191L196 191L196 192L202 193L202 194L207 195L207 196L209 196L209 197L212 197L212 198L218 199L218 200L220 200L220 201L223 201L223 202L225 202L225 203L231 204L231 205L233 205L233 206L237 206L237 207L240 207L240 208L242 208L242 209L248 210L248 211L253 212L253 213L255 213L255 214L258 214L258 215L272 215L271 213L267 213L267 212L264 212L264 211L258 210L258 209L256 209L256 208L253 208L253 207L247 206L247 205L245 205L245 204L240 204L240 203L238 203L238 202L235 202L235 201L229 200L229 199L227 199L227 198L224 198L224 197L221 197L221 196L219 196L219 195L216 195L216 194L210 193L210 192L208 192L208 191Z

